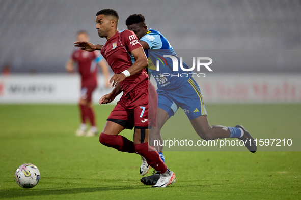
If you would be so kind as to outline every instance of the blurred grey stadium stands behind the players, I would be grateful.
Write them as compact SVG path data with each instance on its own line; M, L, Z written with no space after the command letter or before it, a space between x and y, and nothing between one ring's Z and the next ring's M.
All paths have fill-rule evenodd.
M175 49L300 49L301 3L295 1L0 1L0 68L14 73L60 73L78 30L104 43L95 14L118 11L125 19L142 13L149 28L162 32ZM248 71L246 68L245 71Z

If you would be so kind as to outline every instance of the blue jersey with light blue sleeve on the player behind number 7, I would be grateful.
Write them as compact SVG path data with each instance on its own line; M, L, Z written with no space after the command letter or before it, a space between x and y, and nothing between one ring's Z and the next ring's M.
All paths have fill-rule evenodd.
M158 89L174 90L184 85L191 75L181 77L182 73L187 74L180 68L180 59L177 57L176 52L170 45L168 40L159 32L153 29L148 29L147 34L140 40L149 45L150 50L145 53L148 57L148 69L154 76ZM173 61L171 58L164 57L172 55L178 59L179 71L173 71ZM159 60L159 70L157 71L157 60ZM183 68L189 68L183 63ZM169 76L163 76L168 75Z

